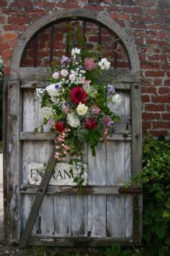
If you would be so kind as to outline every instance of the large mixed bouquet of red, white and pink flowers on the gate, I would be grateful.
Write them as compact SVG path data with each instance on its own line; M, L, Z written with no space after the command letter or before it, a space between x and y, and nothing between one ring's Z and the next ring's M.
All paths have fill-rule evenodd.
M99 74L109 69L107 59L86 57L80 48L72 48L71 57L62 56L58 67L53 72L50 85L37 89L41 98L42 113L45 124L56 133L55 158L62 161L70 155L70 163L84 174L82 154L84 142L88 142L92 155L100 140L109 140L109 127L119 116L108 107L108 101L118 106L120 95L115 93L114 85L97 81ZM37 132L38 127L35 128ZM84 182L82 175L74 182L79 187Z

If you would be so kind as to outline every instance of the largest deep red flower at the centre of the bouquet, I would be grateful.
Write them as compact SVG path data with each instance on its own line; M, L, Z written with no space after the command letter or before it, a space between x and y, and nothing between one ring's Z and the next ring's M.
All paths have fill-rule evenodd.
M80 86L76 86L71 90L71 100L76 104L80 102L86 103L86 92Z

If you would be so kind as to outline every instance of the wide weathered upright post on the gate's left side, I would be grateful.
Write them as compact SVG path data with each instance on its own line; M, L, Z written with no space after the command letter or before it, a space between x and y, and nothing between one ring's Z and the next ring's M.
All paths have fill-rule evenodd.
M6 164L8 174L8 240L18 242L21 232L21 197L19 183L21 179L21 143L19 142L19 130L21 129L22 101L19 92L19 80L8 82L8 126Z

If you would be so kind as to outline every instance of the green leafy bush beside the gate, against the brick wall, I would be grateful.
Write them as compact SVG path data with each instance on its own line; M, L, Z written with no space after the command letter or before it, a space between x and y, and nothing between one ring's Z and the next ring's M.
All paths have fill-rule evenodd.
M170 142L147 137L143 144L143 239L164 244L170 228Z

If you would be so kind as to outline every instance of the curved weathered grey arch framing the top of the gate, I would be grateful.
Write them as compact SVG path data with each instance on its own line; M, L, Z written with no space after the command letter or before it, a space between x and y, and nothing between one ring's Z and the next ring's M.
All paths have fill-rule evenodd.
M86 9L66 9L62 11L51 12L50 14L41 17L24 31L22 37L17 42L17 47L14 49L14 54L12 56L12 65L10 72L11 80L12 77L16 77L17 74L19 76L19 65L22 59L22 54L30 38L32 38L32 36L35 35L35 33L37 33L37 31L40 30L42 27L45 27L45 25L48 25L56 20L60 21L66 19L68 17L88 18L92 21L101 22L102 25L105 25L107 28L109 28L109 30L112 30L112 32L120 38L122 44L125 47L125 50L128 53L128 58L130 60L131 66L131 74L135 74L140 71L138 52L135 48L133 40L125 32L125 30L117 24L117 22L112 20L104 12L94 12Z

